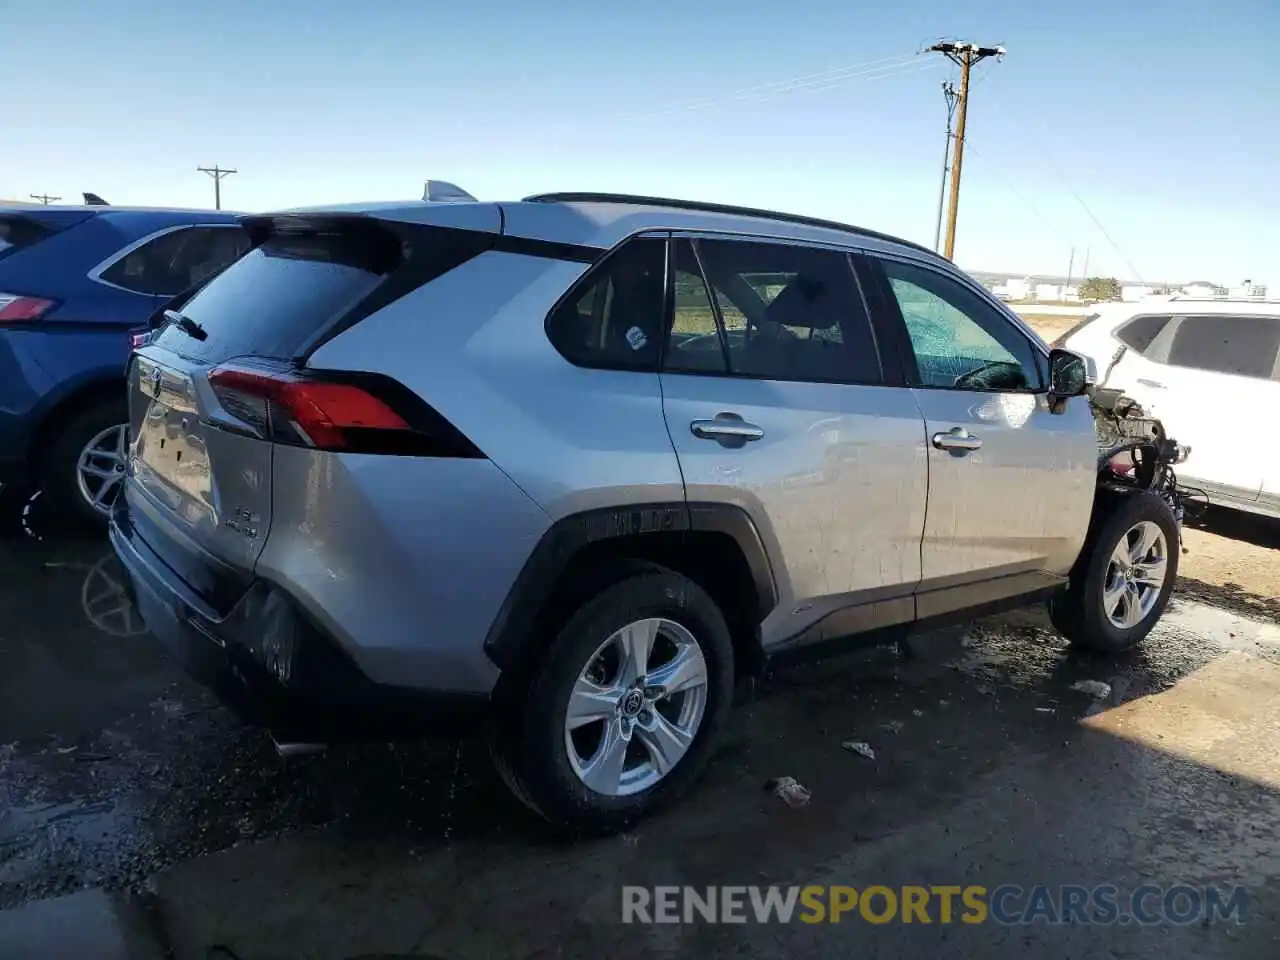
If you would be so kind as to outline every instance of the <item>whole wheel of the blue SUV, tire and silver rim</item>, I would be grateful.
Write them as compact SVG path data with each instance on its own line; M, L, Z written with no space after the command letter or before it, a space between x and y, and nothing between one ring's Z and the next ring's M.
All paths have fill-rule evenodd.
M40 480L54 516L102 527L124 483L128 406L97 402L64 420L50 439Z

